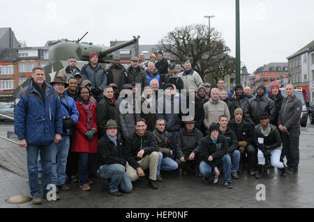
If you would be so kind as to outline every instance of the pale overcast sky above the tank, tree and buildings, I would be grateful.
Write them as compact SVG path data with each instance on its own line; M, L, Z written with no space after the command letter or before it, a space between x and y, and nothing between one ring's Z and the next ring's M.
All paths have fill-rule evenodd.
M156 44L178 26L208 24L223 33L235 56L235 0L181 1L1 1L0 27L11 27L27 46L47 40L110 45L140 35L140 45ZM241 62L248 72L271 62L287 62L314 40L313 0L240 0Z

